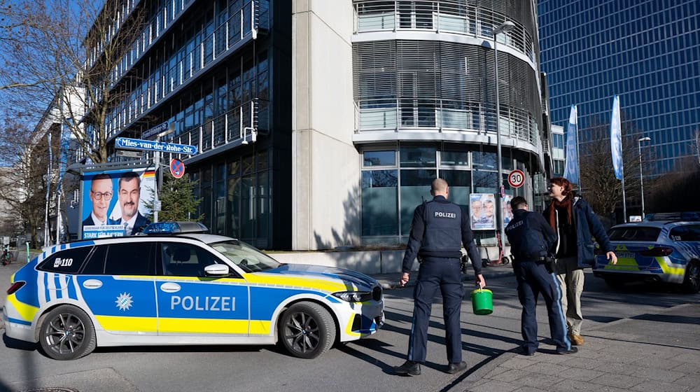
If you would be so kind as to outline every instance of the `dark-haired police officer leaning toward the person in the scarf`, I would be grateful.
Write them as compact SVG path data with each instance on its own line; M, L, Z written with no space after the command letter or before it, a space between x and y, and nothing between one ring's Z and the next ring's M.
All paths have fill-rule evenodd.
M556 344L556 353L575 353L578 350L571 346L566 335L559 281L547 265L553 263L549 254L556 244L556 233L542 215L527 211L524 197L514 197L510 206L514 211L513 219L505 228L505 235L515 258L513 272L518 281L518 297L523 307L520 322L525 342L520 348L520 353L531 356L537 350L539 342L535 307L540 294L547 304L549 333Z

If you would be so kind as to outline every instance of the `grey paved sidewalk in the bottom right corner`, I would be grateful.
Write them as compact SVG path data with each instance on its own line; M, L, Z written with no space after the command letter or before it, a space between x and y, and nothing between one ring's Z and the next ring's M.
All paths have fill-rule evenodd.
M542 343L534 356L504 353L454 391L700 392L700 302L586 331L570 355Z

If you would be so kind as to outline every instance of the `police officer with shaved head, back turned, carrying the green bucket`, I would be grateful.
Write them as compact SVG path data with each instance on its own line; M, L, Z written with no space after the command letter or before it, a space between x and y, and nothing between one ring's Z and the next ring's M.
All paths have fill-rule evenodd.
M442 317L447 346L447 372L454 374L466 369L462 360L462 332L459 312L464 295L461 266L461 245L472 259L476 283L486 286L481 274L481 258L474 244L469 216L454 203L447 201L447 181L433 180L430 195L433 200L416 207L413 213L411 235L403 258L400 286L408 282L409 272L416 255L421 267L413 291L414 309L408 359L394 367L396 374L421 374L421 363L426 360L428 321L437 288L442 293Z

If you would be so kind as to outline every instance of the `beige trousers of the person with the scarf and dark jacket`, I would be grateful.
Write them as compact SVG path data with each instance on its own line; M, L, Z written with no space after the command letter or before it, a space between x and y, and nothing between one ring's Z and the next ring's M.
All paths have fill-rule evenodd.
M583 293L583 269L575 257L556 260L556 278L561 286L561 311L566 316L566 329L573 335L581 335L581 293Z

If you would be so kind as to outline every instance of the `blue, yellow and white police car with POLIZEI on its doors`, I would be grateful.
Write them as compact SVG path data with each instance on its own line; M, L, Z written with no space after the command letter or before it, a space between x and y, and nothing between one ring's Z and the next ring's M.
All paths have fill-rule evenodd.
M10 279L8 337L69 360L96 346L276 344L315 358L384 324L365 274L286 265L200 223L50 248Z

